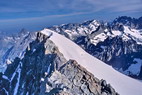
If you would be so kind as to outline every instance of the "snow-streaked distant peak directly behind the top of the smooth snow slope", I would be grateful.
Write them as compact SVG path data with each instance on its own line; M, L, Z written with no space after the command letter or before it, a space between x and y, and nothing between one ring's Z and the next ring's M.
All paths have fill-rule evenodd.
M49 29L54 30L60 34L63 34L67 38L75 40L78 36L86 36L91 34L93 31L100 26L101 22L97 20L85 21L81 24L70 23L60 26L53 26Z

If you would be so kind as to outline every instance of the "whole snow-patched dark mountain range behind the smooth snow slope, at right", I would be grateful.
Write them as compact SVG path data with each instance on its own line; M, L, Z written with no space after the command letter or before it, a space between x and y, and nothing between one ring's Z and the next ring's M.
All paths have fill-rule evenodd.
M112 23L88 21L50 29L80 45L85 51L118 71L142 79L141 17L122 16Z

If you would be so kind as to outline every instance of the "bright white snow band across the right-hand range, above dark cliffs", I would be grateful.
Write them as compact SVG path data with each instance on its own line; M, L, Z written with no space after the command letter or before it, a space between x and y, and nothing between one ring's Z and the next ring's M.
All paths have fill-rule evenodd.
M129 26L122 26L123 30L111 30L107 29L102 30L103 32L99 32L99 34L95 35L91 39L91 43L97 45L99 42L103 42L108 37L121 37L124 41L134 40L137 44L142 44L142 32L141 30L131 29ZM92 35L91 35L92 36Z

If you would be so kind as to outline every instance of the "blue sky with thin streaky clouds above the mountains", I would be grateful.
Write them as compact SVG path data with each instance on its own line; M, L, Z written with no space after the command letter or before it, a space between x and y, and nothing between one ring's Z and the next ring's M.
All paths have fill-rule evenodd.
M89 19L142 16L142 0L0 0L0 31L30 31Z

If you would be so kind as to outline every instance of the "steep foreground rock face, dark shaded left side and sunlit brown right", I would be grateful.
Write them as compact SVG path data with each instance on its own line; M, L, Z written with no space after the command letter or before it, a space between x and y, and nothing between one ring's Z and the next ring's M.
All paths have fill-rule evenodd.
M117 95L75 61L66 61L46 35L37 33L22 59L16 58L0 73L2 95Z

